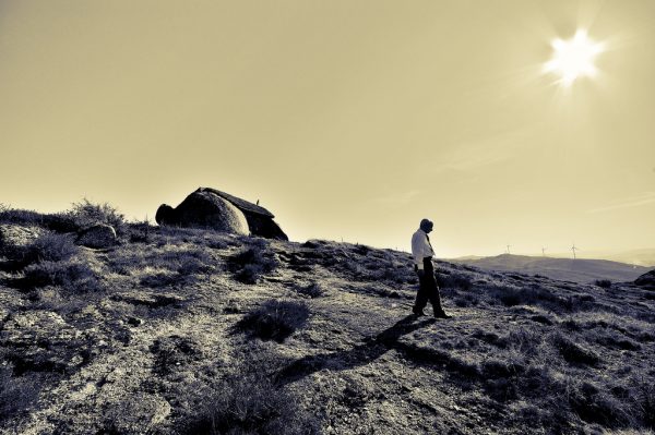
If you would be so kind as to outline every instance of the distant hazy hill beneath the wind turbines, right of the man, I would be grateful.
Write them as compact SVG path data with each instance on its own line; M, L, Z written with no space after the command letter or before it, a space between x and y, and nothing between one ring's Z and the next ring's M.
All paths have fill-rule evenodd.
M487 270L517 271L529 275L543 275L552 279L593 282L609 279L614 282L633 281L651 268L607 259L551 258L526 255L502 254L493 257L450 259L452 263L466 264Z

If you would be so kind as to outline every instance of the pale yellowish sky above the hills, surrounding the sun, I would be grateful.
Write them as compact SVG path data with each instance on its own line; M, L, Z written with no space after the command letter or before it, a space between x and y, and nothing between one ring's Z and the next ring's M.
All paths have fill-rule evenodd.
M579 28L598 73L563 87ZM651 0L0 0L0 203L211 186L296 241L655 247L654 77Z

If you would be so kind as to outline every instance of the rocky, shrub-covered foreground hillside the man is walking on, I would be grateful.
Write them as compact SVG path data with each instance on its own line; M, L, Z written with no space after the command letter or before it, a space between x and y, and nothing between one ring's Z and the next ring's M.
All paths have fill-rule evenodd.
M655 292L632 285L441 262L434 321L408 315L406 253L147 223L91 250L25 220L0 262L2 433L655 426Z

